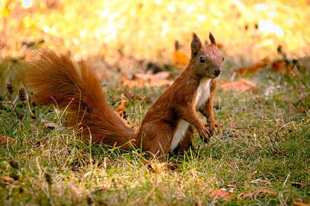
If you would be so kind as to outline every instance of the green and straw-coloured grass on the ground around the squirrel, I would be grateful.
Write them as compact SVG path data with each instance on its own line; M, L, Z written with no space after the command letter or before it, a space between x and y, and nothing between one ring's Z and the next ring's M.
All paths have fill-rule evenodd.
M5 84L18 85L12 75L19 62L3 61L2 97ZM10 71L10 72L8 72ZM5 73L6 72L6 73ZM64 128L61 111L53 107L15 109L7 97L0 111L0 202L2 205L292 205L310 202L310 114L309 69L296 76L273 73L264 68L248 79L257 87L247 92L218 89L215 97L216 129L206 145L196 137L197 150L185 157L170 154L161 167L136 151L110 150L89 145L72 128ZM111 80L113 81L113 80ZM124 88L108 89L118 106ZM152 100L163 90L132 89L129 92ZM270 91L267 93L267 91ZM132 124L141 121L151 103L133 98L126 105ZM52 130L45 122L55 122ZM6 138L5 140L7 140ZM14 141L11 141L13 138ZM16 166L16 162L18 167ZM155 169L145 162L150 162ZM156 168L157 165L157 168ZM170 169L169 169L170 168ZM6 181L3 177L11 177ZM14 180L16 179L16 180ZM225 188L234 194L228 201L211 197ZM255 191L266 189L272 194ZM244 192L254 192L244 199Z

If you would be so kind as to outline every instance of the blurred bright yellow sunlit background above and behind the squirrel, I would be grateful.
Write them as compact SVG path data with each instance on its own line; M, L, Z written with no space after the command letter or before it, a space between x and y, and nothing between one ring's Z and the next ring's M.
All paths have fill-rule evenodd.
M275 69L288 70L289 62L310 52L309 0L2 0L0 11L2 61L49 47L86 59L102 79L112 77L109 68L124 78L184 69L191 32L209 43L211 31L226 69L240 74L274 59L284 62Z

